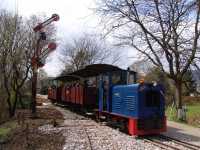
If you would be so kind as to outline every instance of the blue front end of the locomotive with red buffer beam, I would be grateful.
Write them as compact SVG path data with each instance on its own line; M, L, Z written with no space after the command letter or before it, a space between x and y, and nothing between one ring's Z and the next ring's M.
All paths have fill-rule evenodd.
M164 90L161 85L141 84L138 98L139 130L165 128Z

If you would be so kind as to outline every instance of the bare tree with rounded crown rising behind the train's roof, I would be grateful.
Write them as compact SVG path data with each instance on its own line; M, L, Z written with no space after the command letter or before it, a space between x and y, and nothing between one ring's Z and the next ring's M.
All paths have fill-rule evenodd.
M96 37L88 35L74 39L73 43L66 43L61 52L65 71L75 71L86 65L103 63L110 55L110 50L104 45Z

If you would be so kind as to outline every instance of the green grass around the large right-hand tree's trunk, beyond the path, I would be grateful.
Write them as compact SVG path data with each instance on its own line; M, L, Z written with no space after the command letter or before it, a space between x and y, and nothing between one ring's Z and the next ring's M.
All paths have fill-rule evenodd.
M186 105L186 122L189 125L200 127L200 103L195 105ZM166 115L168 120L181 122L177 119L176 109L174 107L167 107Z

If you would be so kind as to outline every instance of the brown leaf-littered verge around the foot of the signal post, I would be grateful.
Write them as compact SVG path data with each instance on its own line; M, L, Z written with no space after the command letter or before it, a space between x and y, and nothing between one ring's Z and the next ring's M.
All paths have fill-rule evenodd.
M23 119L13 118L12 121L0 126L1 137L9 139L0 145L0 149L61 150L63 148L65 142L63 131L59 127L52 126L54 120L58 125L64 121L59 111L54 108L38 108L37 118L34 119L31 117L30 110L21 109L17 113L23 114Z

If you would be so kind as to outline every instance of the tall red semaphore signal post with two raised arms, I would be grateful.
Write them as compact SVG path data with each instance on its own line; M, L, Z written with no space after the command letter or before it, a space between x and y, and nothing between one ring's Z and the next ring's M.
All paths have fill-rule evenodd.
M36 93L37 93L37 74L38 68L44 66L45 59L49 53L56 49L55 43L50 43L47 48L41 50L40 42L42 40L46 40L46 34L42 31L44 27L49 25L54 21L58 21L59 16L57 14L53 14L49 19L44 21L43 23L39 23L36 27L33 28L35 33L39 33L39 38L36 43L36 48L34 50L34 55L32 57L32 114L36 115Z

